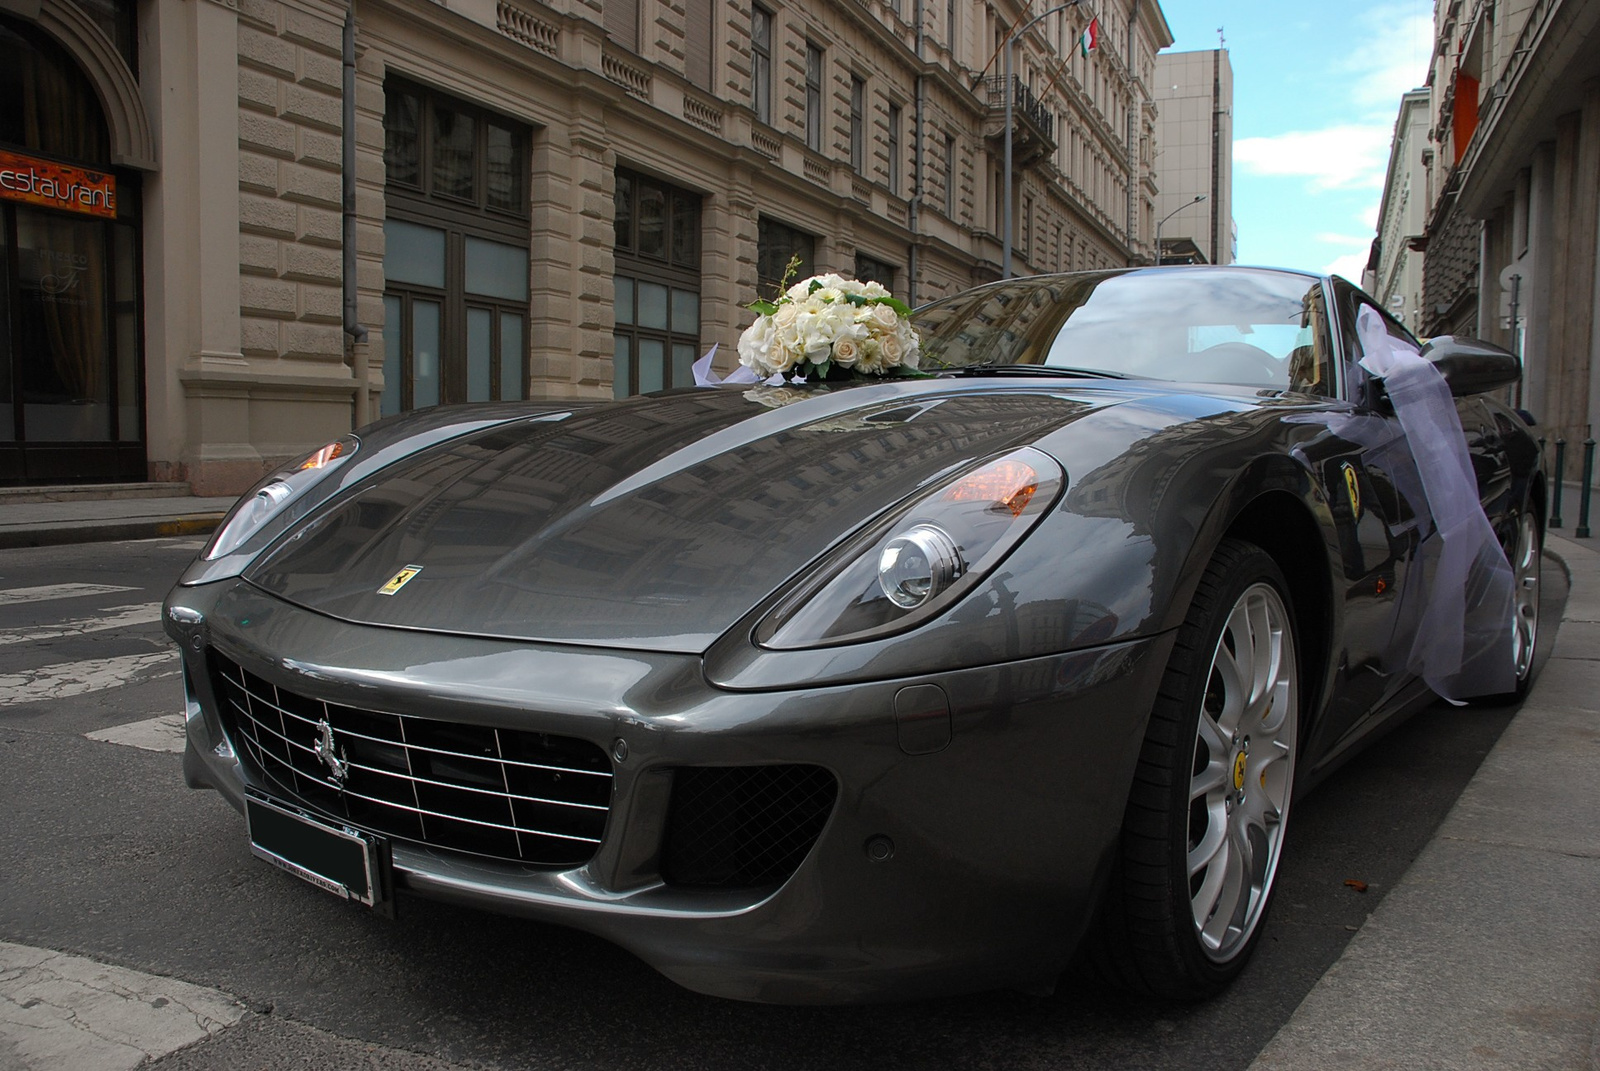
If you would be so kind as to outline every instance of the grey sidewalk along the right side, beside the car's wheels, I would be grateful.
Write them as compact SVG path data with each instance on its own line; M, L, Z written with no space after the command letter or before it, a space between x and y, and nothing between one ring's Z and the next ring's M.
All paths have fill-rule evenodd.
M1251 1071L1600 1069L1600 546L1546 549L1571 596L1533 693Z

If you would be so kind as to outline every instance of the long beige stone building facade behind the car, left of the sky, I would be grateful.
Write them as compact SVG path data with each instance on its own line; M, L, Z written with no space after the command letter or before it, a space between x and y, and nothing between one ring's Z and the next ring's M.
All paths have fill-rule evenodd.
M0 123L0 166L118 191L93 226L0 194L0 480L232 493L395 411L682 386L714 343L731 365L792 256L909 301L995 279L1008 93L1013 271L1149 263L1162 10L1107 0L1086 54L1080 8L1013 38L1024 11L0 0L0 48L106 128L85 147ZM61 256L93 293L48 293ZM104 368L62 357L62 325Z

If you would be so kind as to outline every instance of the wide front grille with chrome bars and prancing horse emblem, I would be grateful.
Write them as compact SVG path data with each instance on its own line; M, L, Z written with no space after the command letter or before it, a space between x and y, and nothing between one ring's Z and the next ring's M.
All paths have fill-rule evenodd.
M600 844L611 762L587 740L325 703L214 650L210 663L240 759L315 810L371 832L557 869L582 866Z

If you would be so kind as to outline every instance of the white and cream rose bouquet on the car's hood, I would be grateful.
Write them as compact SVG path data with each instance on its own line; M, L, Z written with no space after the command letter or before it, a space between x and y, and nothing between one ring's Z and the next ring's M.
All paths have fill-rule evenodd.
M739 363L762 379L850 379L917 370L920 339L910 309L882 283L813 275L776 301L749 307L757 317L739 336Z

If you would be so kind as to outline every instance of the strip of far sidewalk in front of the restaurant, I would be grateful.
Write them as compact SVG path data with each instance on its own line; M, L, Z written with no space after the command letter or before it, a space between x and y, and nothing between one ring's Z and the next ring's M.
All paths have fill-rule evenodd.
M128 493L133 493L133 485ZM0 495L0 549L210 535L234 498L106 498L62 490L59 501L8 501L32 495Z

